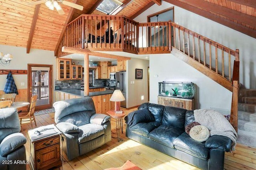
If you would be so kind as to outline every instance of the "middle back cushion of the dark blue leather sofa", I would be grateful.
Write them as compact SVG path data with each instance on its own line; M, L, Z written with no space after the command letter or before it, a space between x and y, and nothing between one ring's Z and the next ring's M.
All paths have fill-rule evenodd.
M172 125L184 129L186 109L178 107L164 107L164 115L162 119L163 125Z

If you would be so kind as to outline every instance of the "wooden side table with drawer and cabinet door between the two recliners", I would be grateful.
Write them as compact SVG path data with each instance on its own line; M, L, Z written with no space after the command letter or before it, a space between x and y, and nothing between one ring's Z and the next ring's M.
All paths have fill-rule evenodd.
M28 131L30 137L30 168L32 170L48 170L62 165L60 131L57 129L57 133L52 134L52 128L57 129L54 125L48 125ZM47 131L45 129L49 129L49 134L52 135L35 139L37 136L34 135L34 131L42 131L42 135L47 135L47 133L43 133Z

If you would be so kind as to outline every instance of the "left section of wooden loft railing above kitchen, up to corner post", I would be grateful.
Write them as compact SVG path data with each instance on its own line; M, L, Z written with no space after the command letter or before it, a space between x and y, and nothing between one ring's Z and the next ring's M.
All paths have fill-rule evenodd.
M138 22L124 16L81 15L67 25L57 52L58 57L65 55L65 46L137 54L137 44Z

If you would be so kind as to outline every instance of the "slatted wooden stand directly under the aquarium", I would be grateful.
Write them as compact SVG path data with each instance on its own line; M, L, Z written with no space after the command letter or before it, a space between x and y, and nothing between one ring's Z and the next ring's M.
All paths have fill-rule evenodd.
M194 103L194 99L158 96L158 104L164 106L180 107L187 110L194 110Z

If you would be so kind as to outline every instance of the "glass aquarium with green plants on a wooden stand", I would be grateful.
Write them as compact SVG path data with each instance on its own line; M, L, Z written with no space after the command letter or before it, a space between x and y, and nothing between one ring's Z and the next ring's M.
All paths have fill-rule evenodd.
M192 82L158 82L159 96L193 99L195 94Z

